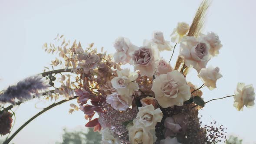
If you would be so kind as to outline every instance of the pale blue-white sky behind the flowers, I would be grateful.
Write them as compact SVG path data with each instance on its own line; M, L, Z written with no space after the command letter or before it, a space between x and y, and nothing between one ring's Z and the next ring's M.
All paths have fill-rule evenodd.
M200 0L0 0L0 89L20 79L42 72L54 59L41 49L53 42L57 33L66 39L77 39L82 46L95 43L113 53L113 41L125 36L137 46L150 39L154 30L164 32L169 40L177 22L191 23ZM217 89L203 88L207 101L233 95L237 82L255 82L254 0L214 0L208 12L204 33L213 31L220 36L223 48L208 65L219 66L223 75ZM178 50L174 54L177 58ZM169 59L171 52L162 55ZM172 61L172 64L175 61ZM200 86L196 72L188 79ZM16 111L14 130L39 109L27 102ZM13 139L15 144L54 144L60 141L62 128L84 126L84 114L68 115L69 104L53 108L39 116ZM247 144L256 141L256 108L236 111L233 98L212 101L201 111L203 121L223 124L228 134L239 135Z

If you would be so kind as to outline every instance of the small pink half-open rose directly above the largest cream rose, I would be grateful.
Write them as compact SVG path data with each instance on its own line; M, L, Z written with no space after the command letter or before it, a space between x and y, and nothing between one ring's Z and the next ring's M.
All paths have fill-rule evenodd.
M168 72L173 71L174 69L171 67L170 63L167 63L164 59L160 59L157 66L156 75L167 74Z

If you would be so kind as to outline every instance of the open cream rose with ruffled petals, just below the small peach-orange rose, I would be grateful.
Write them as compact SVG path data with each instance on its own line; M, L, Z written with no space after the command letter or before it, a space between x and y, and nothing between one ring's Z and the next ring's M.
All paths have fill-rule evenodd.
M137 120L143 124L146 128L154 129L158 122L161 122L163 118L163 112L160 108L154 109L153 105L147 105L139 107Z

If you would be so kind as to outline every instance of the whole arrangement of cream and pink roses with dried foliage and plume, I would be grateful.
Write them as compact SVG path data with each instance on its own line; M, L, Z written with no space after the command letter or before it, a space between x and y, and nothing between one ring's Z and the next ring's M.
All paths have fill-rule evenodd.
M70 43L63 35L58 35L56 43L59 44L45 43L43 48L58 54L52 66L64 66L64 69L41 74L53 88L42 94L52 100L61 96L66 101L77 98L78 105L70 105L69 112L83 111L89 121L85 126L101 132L102 144L212 144L223 141L226 139L223 126L202 125L198 116L198 111L212 101L205 102L200 89L217 88L217 80L222 77L218 67L207 65L222 47L217 34L201 33L208 7L208 1L204 0L191 25L178 23L171 33L171 42L164 39L162 32L154 32L152 39L144 40L140 47L119 37L114 42L116 52L113 56L103 52L103 48L97 52L93 43L83 49L81 43ZM176 64L171 65L174 49L178 46L179 56ZM161 51L172 51L171 59L162 58ZM122 68L125 64L133 69ZM190 69L198 72L203 85L197 87L187 82ZM27 93L21 92L26 96L15 96L17 93L13 89L17 86L13 86L12 90L0 94L0 101L14 104L15 100L23 101L28 95L30 99L31 93L37 96L38 92L30 88L47 87L42 82L35 85L26 86L29 87ZM238 83L235 94L224 98L227 97L233 97L234 106L241 111L244 106L254 105L254 88ZM2 121L7 124L5 130L1 125L1 134L10 132L10 118L11 113L3 109L0 125Z

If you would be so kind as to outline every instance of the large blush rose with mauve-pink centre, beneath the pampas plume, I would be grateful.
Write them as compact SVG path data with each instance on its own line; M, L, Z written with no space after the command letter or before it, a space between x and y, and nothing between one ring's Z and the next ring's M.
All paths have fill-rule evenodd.
M181 40L180 56L184 59L185 65L193 66L199 73L205 68L211 56L210 45L203 39L196 39L194 36L185 36Z

